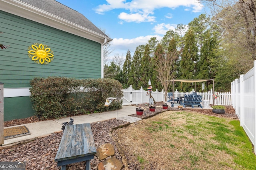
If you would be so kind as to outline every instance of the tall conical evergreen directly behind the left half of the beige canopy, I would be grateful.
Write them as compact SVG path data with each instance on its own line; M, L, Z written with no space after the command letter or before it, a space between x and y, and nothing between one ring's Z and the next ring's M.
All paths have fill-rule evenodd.
M184 50L182 51L182 59L180 61L180 79L194 79L195 78L195 63L198 61L198 48L194 32L190 29L185 35ZM193 89L192 84L182 86L182 91L189 92Z

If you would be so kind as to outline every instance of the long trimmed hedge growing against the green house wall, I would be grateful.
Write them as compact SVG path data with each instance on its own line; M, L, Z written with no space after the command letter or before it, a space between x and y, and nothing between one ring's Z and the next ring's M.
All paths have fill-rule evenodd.
M32 108L41 119L122 108L122 84L114 79L34 78L30 80L30 85ZM106 107L104 104L108 97L118 100Z

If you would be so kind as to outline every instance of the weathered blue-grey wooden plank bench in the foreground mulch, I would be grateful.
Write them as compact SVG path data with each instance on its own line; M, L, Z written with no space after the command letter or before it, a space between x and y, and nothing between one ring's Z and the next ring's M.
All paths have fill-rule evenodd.
M90 169L90 160L96 154L96 147L90 123L67 125L60 141L55 162L66 170L67 164L86 161L86 170Z

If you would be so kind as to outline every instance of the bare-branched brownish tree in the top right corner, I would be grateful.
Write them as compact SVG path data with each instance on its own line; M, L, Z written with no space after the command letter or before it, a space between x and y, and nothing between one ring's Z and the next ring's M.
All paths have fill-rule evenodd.
M255 0L200 0L207 4L221 27L226 42L232 40L250 52L256 60L256 1ZM235 47L236 48L236 47Z

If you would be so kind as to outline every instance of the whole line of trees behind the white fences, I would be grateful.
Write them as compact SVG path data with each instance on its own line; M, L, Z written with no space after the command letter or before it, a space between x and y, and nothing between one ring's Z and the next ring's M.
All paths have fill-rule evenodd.
M144 90L150 79L152 90L165 92L172 90L172 79L214 79L215 91L230 91L230 83L256 59L255 0L201 1L212 9L212 16L201 14L188 25L178 24L160 41L152 37L136 47L133 57L128 50L123 65L117 59L104 65L104 77L118 80L123 88ZM196 90L212 88L212 82L204 84L204 90L201 83ZM195 83L174 84L174 90L182 92L194 88Z

